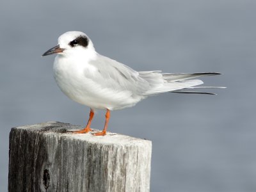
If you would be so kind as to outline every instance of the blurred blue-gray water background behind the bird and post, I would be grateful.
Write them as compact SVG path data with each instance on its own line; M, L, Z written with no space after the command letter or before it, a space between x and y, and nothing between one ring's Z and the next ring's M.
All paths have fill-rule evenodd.
M41 57L66 31L135 70L223 73L202 78L228 87L216 96L150 97L113 111L108 130L152 140L150 191L256 191L255 20L253 0L1 1L0 191L12 127L88 120L54 82L54 56Z

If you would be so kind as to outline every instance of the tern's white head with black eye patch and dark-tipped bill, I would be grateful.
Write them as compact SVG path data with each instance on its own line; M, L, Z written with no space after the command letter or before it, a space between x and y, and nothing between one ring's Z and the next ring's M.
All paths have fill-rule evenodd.
M58 45L46 51L42 56L60 54L70 56L95 52L93 43L86 34L80 31L68 31L58 38Z

